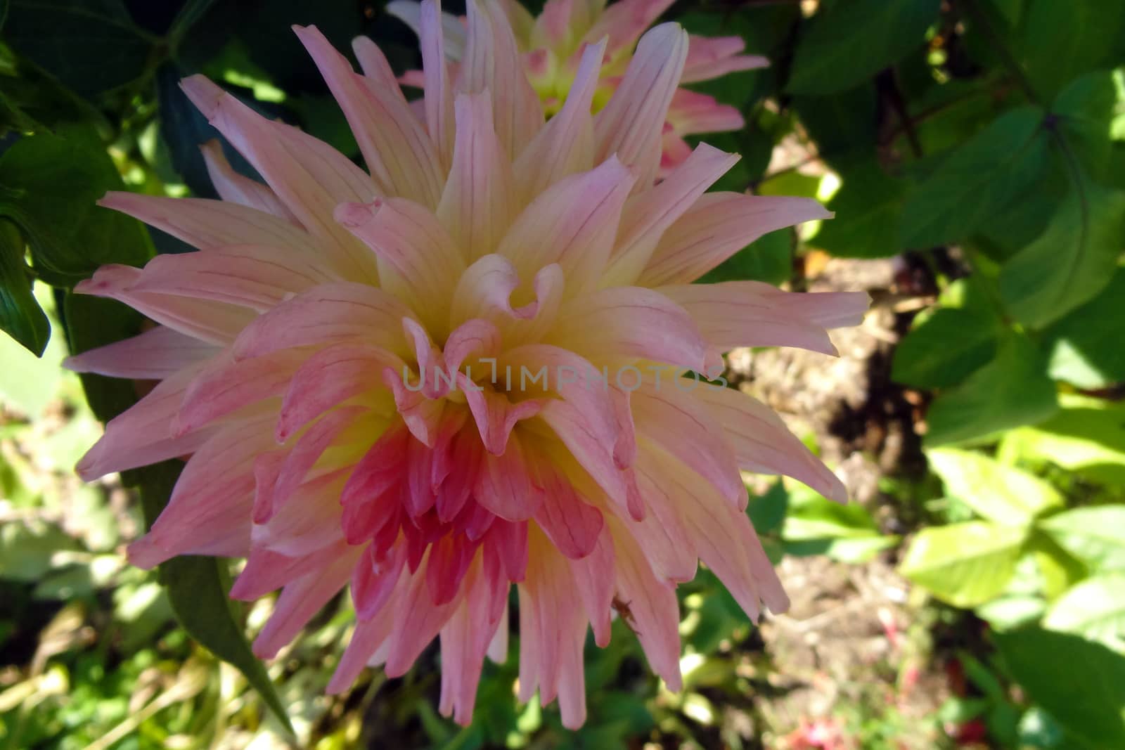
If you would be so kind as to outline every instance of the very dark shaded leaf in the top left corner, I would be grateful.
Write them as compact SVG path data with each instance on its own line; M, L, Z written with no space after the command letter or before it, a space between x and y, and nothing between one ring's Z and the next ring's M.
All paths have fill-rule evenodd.
M4 37L83 97L143 75L156 44L122 0L11 0Z

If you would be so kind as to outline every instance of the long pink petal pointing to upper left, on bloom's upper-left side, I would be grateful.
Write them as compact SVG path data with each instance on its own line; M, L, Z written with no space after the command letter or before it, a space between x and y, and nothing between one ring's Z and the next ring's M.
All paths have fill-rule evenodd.
M294 216L322 240L322 250L351 275L377 278L370 253L332 219L344 201L367 201L377 188L340 152L297 128L266 119L202 75L184 93L266 179Z

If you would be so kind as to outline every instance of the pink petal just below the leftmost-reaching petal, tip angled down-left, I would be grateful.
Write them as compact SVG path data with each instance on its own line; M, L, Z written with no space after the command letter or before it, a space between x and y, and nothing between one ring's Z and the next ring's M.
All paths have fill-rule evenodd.
M172 418L183 400L183 391L199 372L189 365L165 378L141 400L106 423L106 433L74 467L83 481L114 471L125 471L166 459L194 453L209 437L209 431L173 437Z

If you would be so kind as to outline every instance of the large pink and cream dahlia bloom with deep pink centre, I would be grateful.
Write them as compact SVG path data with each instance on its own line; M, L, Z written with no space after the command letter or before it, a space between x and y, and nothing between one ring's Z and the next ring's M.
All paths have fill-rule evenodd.
M363 74L297 35L367 171L201 76L183 89L264 178L205 151L223 200L114 192L104 206L199 249L110 265L76 290L159 325L70 367L159 380L79 463L86 479L189 457L138 566L246 558L232 596L281 589L272 657L344 586L357 624L330 689L405 672L435 636L441 711L470 721L519 591L520 695L585 717L583 642L624 604L652 669L681 684L675 586L702 560L752 617L786 606L739 469L843 499L765 406L682 377L735 345L831 352L864 295L690 282L765 232L827 213L704 190L737 156L700 146L660 184L656 143L685 60L649 31L596 115L605 42L544 124L506 17L469 7L462 64L423 3L425 99L356 42ZM714 372L714 370L712 370Z

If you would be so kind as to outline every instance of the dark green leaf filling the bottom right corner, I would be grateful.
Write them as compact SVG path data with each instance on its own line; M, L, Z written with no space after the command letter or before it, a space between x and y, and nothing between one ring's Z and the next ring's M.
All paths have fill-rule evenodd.
M1038 627L994 639L1012 678L1060 724L1095 748L1125 747L1125 657Z

